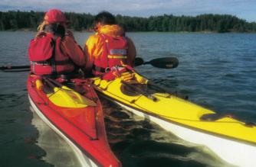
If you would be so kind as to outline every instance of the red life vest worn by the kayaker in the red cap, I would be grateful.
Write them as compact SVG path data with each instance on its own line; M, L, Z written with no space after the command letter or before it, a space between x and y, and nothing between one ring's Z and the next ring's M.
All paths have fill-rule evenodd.
M36 75L65 74L74 71L74 63L61 50L61 37L47 34L31 40L28 48L31 72Z

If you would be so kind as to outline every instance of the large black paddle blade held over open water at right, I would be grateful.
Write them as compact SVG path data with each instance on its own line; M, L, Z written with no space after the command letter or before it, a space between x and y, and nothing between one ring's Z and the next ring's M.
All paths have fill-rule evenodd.
M149 64L161 69L173 69L179 65L179 60L176 57L163 57L152 59Z

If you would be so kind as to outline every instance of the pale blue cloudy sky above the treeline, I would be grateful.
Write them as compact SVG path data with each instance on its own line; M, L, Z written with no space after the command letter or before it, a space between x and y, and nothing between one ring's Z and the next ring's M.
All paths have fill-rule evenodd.
M0 0L0 11L62 11L149 17L174 14L195 16L199 14L232 14L246 21L256 21L256 0Z

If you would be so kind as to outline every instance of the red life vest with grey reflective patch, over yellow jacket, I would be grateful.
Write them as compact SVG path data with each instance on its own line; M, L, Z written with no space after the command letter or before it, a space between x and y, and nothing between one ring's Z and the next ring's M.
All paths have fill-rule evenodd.
M127 63L128 43L126 37L111 37L98 34L103 41L103 53L94 59L94 75L102 75L106 69L113 66L123 66Z

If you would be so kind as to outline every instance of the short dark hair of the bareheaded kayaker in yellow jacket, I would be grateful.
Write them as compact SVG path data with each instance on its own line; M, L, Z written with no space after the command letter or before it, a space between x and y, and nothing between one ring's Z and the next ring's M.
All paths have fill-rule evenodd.
M94 18L94 24L97 24L97 23L100 23L103 25L116 24L116 18L113 16L113 14L110 14L110 12L108 11L101 11Z

